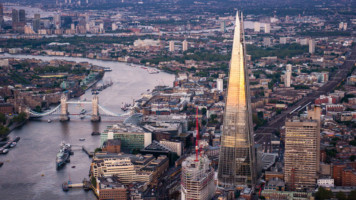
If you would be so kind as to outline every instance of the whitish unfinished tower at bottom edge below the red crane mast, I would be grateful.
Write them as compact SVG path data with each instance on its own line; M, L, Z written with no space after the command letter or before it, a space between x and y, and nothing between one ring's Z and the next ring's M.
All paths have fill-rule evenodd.
M182 163L181 176L182 200L207 200L215 194L214 169L206 155L192 155Z

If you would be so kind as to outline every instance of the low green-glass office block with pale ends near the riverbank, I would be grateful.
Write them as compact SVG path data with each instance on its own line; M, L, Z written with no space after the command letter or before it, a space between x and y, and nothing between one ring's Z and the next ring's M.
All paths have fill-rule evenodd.
M115 124L108 126L101 133L101 146L110 139L121 140L121 151L131 153L147 147L152 142L152 133L144 131L142 128L132 124Z

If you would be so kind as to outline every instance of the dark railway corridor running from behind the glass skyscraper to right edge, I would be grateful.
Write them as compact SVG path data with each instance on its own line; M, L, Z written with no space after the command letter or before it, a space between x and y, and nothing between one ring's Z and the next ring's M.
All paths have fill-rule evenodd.
M301 99L295 105L289 107L287 110L283 111L281 114L277 115L271 121L267 123L267 125L258 128L255 133L255 141L258 144L264 144L269 142L271 135L274 131L280 130L280 128L285 124L285 119L287 117L291 117L301 110L300 108L305 108L307 104L312 104L315 99L317 99L320 95L326 95L327 93L334 90L342 81L345 81L348 74L351 72L351 69L355 66L356 60L356 46L353 47L351 54L347 57L347 60L337 69L336 73L331 76L331 79L325 83L318 90L313 91L308 94L306 97ZM298 109L297 109L298 108ZM291 113L292 111L295 112ZM290 114L291 113L291 114ZM265 149L269 149L266 147Z

